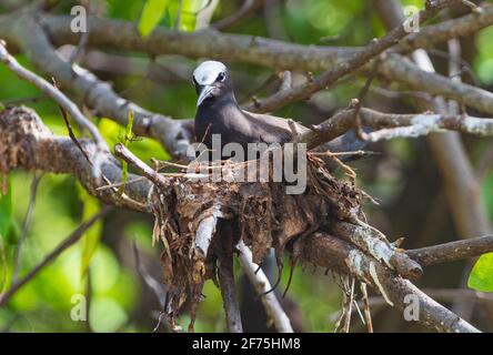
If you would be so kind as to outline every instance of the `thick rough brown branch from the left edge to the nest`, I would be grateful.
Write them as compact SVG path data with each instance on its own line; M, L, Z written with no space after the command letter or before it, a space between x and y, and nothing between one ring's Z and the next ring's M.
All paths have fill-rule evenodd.
M119 162L109 153L98 150L97 144L79 140L89 158L101 156L101 171L111 182L120 182ZM92 166L70 138L51 133L36 112L27 108L11 108L0 112L0 171L23 168L44 172L66 173L76 176L82 185L101 201L147 211L148 181L128 184L125 193L133 200L121 199L110 189L98 190L100 182L92 174ZM130 174L129 180L137 178Z

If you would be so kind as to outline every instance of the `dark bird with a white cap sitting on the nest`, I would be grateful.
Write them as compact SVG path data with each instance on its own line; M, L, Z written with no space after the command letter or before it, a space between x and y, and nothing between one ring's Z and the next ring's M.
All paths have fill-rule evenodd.
M195 114L195 139L212 148L212 134L221 134L221 148L231 142L247 149L248 143L279 143L292 140L288 120L270 114L242 110L233 92L233 82L227 67L218 61L204 61L193 72L193 83L199 95ZM308 131L295 123L299 133ZM360 150L365 142L350 131L323 145L331 152Z

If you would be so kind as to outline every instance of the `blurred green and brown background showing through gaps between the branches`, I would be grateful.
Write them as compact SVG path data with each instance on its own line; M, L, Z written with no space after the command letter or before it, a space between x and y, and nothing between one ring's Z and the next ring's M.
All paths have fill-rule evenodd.
M182 31L192 31L195 14L208 0L184 0L179 26ZM69 13L74 1L58 1L54 13ZM93 8L105 18L138 22L144 0L92 1ZM178 0L169 0L167 14L159 26L177 27ZM242 1L220 1L214 20L237 11ZM423 7L423 1L403 1L404 4ZM296 43L326 45L363 45L372 38L382 36L384 28L366 0L286 0L279 1L274 9L283 40ZM228 29L230 32L272 37L263 11L256 11L247 20ZM276 33L279 34L279 33ZM464 43L464 59L471 63L479 85L493 88L493 28L485 29ZM103 80L112 81L117 92L138 104L173 118L192 118L195 111L195 93L189 80L197 61L173 55L159 57L152 62L143 54L102 52L102 55L119 55L130 68L128 72L108 70L91 55L84 67L93 70ZM19 61L32 65L22 55ZM107 58L107 60L108 60ZM434 57L433 57L434 58ZM434 58L444 65L443 59ZM111 67L111 65L110 65ZM446 65L444 65L446 68ZM115 65L117 68L117 65ZM127 67L125 67L127 68ZM231 64L237 83L237 97L248 99L268 80L272 72L252 65ZM34 69L33 69L34 70ZM134 73L138 74L134 74ZM178 72L178 73L177 73ZM185 73L185 74L182 74ZM305 123L315 123L330 116L338 108L345 106L354 97L364 79L351 78L330 92L322 92L311 103L291 104L278 114L294 116ZM3 105L22 103L33 108L44 123L57 134L67 135L67 129L58 106L32 85L18 80L0 65L0 101ZM396 90L388 83L375 83L381 91L372 91L366 105L386 111L412 111L412 100L402 95L389 99L383 90ZM404 88L405 89L405 88ZM268 94L266 87L260 94ZM259 94L259 93L256 93ZM244 101L244 100L243 100ZM112 145L120 140L124 128L108 119L95 119L107 141ZM487 146L487 140L465 138L473 162ZM130 149L142 160L169 159L167 152L154 141L141 138ZM381 206L368 206L370 221L389 234L391 240L406 236L405 247L424 246L454 239L454 231L443 196L443 189L434 162L426 154L424 140L396 140L376 144L373 150L382 152L376 158L354 164L359 183L369 193L380 199ZM14 171L9 175L11 215L8 214L3 197L3 217L9 216L9 227L1 235L0 291L10 285L12 260L29 205L30 185L33 172ZM484 180L482 196L493 216L493 174ZM88 195L78 182L68 175L46 174L42 176L34 206L32 225L22 247L20 275L24 275L39 263L59 242L67 237L81 221L98 211L99 203ZM426 215L434 213L432 221ZM26 285L10 303L0 308L0 331L10 332L151 332L157 325L159 303L135 271L132 242L140 250L143 264L149 273L161 280L159 265L160 245L151 245L152 220L130 211L114 211L98 223L84 240L67 250L50 266ZM88 253L88 240L95 241L90 266L84 271L83 251ZM84 246L85 245L85 246ZM89 253L91 254L91 253ZM85 256L85 261L89 261ZM288 261L286 261L288 264ZM238 265L237 265L238 266ZM422 286L457 286L462 263L430 268L420 282ZM240 268L237 273L241 277ZM289 267L283 271L281 288L288 280ZM3 288L2 288L3 287ZM208 282L203 291L205 298L198 311L197 332L225 331L221 295ZM70 311L74 305L73 295L89 295L88 322L73 322ZM312 265L296 267L289 297L298 306L302 329L305 332L332 332L333 314L341 307L341 291L324 270ZM375 307L375 324L383 331L410 331L414 328L400 320L400 314L389 307ZM187 314L180 318L188 325ZM354 331L364 329L358 316L353 318Z

